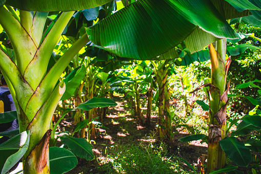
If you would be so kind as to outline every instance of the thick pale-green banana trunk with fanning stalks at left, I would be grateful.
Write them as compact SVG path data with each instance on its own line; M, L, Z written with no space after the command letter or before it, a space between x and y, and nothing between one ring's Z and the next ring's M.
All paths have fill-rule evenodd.
M19 131L30 130L28 150L23 157L24 173L50 173L49 128L55 108L66 88L64 82L56 84L73 56L89 39L84 34L47 72L53 49L74 11L61 12L44 37L48 12L19 12L19 18L15 18L5 7L0 7L0 24L12 44L16 58L14 63L0 48L0 70L14 99Z

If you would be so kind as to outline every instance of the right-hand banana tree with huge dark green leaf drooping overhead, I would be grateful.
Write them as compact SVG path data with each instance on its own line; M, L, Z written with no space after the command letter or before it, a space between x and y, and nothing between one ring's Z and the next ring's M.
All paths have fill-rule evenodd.
M140 2L140 3L139 3ZM234 31L231 30L231 28L228 25L224 25L224 24L228 24L227 22L225 22L224 20L230 20L231 18L235 18L236 16L246 16L249 15L250 12L247 9L252 9L251 13L253 14L259 14L257 11L253 11L253 10L259 10L260 8L256 5L256 4L252 4L249 1L244 1L244 5L242 4L242 2L240 1L198 1L198 2L192 2L192 1L158 1L154 2L154 1L139 1L136 3L133 3L132 5L129 6L128 9L122 10L121 11L121 15L125 16L124 14L127 14L128 12L131 12L132 15L129 17L125 17L124 20L121 21L122 24L125 24L126 21L132 21L136 16L138 16L139 11L136 11L134 7L140 7L140 8L144 8L144 7L155 7L155 9L160 9L160 7L164 7L164 9L160 10L160 13L162 14L160 16L160 21L168 21L170 24L172 23L172 19L175 18L173 16L176 15L181 15L181 16L176 16L176 18L182 19L184 17L184 20L182 20L182 22L180 21L178 24L183 23L183 22L189 22L190 24L198 26L193 28L193 32L189 31L190 27L189 25L185 24L182 26L186 26L186 30L180 31L179 28L175 28L175 31L172 32L168 32L165 24L160 23L159 21L157 21L155 19L154 20L148 20L145 21L143 23L132 23L128 25L122 25L121 28L108 28L108 26L106 25L105 21L101 21L98 25L95 25L93 27L90 27L87 29L87 34L89 35L89 38L91 39L92 42L94 42L96 45L99 46L103 46L105 48L107 48L109 51L115 53L116 55L119 56L124 56L124 57L133 57L133 59L139 59L139 60L145 60L145 59L150 59L150 57L156 57L157 55L159 55L158 53L160 52L160 50L164 50L163 52L167 52L168 50L170 50L172 45L177 45L178 43L182 42L183 40L185 40L186 42L186 46L190 49L190 51L193 53L197 50L203 49L205 46L207 46L208 44L217 41L217 52L218 54L222 57L219 58L217 55L217 53L215 53L214 49L212 49L211 53L212 57L212 62L220 62L220 66L216 67L214 65L212 65L212 67L216 67L216 69L213 69L213 79L212 83L217 83L216 84L216 88L212 88L215 89L215 92L211 91L213 95L212 98L213 101L212 103L212 107L211 108L212 114L215 114L216 112L219 111L219 109L222 108L222 110L225 110L224 108L226 107L226 103L227 100L226 98L224 98L223 102L217 103L216 101L219 101L220 96L222 96L222 94L224 93L224 96L226 95L226 78L225 78L225 74L227 73L227 69L228 69L228 65L225 66L225 62L226 60L224 59L224 55L226 53L226 47L224 47L224 45L226 45L225 40L220 40L220 38L236 38ZM166 3L166 4L165 4ZM229 4L230 3L230 4ZM193 4L193 6L190 6L191 4ZM166 5L166 6L165 6ZM176 11L176 13L171 13L171 10L167 10L166 7L168 7L168 5L170 5L170 8L174 8ZM145 8L145 9L146 9ZM224 10L226 9L226 10ZM145 10L146 11L146 10ZM166 13L164 13L163 11L165 11ZM254 13L255 12L255 13ZM146 16L148 15L149 18L151 18L151 15L148 14L149 12L146 11L144 12L142 15ZM195 15L198 14L198 15ZM171 16L170 18L168 18L168 15ZM200 17L199 17L200 16ZM206 16L206 17L204 17ZM116 16L115 16L116 17ZM157 16L158 17L158 16ZM208 18L212 20L212 22L207 22ZM215 19L215 20L214 20ZM136 21L136 18L135 18ZM138 21L138 20L137 20ZM113 20L113 18L110 18L110 22L114 23L113 26L117 26L116 23L120 23L119 21L115 22L115 20ZM147 22L147 23L146 23ZM155 23L154 23L155 22ZM220 27L218 24L221 24L224 26ZM137 25L138 23L138 25ZM209 25L204 25L205 24L209 24ZM212 24L211 24L212 23ZM177 24L177 23L176 23ZM141 29L143 25L147 25L147 26L156 26L155 28L151 27L148 28L148 30L144 30L143 28L143 32L140 32L140 35L137 34L137 30ZM192 27L191 26L191 27ZM161 28L162 27L162 28ZM177 27L177 26L176 26ZM212 28L213 27L213 28ZM135 28L135 30L134 30ZM224 29L224 30L219 30L219 29ZM229 29L230 28L230 29ZM118 30L117 30L118 29ZM155 29L155 30L153 30ZM101 35L95 35L94 31L96 33L96 30L99 31L103 31L101 33ZM215 30L215 31L214 31ZM128 32L120 32L120 31L128 31ZM160 32L157 32L160 31ZM165 34L163 34L166 31ZM188 33L186 34L186 32L188 31ZM180 34L180 33L183 34ZM104 33L108 33L108 34L104 34ZM110 33L110 34L109 34ZM126 35L125 35L126 33ZM131 34L130 34L131 33ZM150 37L151 34L155 34L157 33L159 35L158 40L154 40L154 37ZM173 40L173 38L171 36L171 33L175 34L175 35L182 35L185 36L183 39L181 40ZM221 34L222 33L222 34ZM226 34L225 34L226 33ZM148 34L148 35L147 35ZM164 38L170 38L169 41L163 42L162 40L160 40L160 35L163 34ZM211 34L211 35L210 35ZM224 34L224 35L223 35ZM110 35L114 35L114 38L109 38ZM121 37L119 36L121 35ZM117 40L118 38L122 38L122 36L124 35L124 38L130 38L128 37L128 35L138 35L137 37L132 37L130 38L130 40ZM221 36L223 35L223 36ZM234 36L233 36L234 35ZM152 38L152 39L150 39ZM177 37L176 37L177 38ZM103 40L109 41L109 42L102 42ZM198 42L200 40L200 42ZM117 42L116 42L117 41ZM128 41L128 42L125 42ZM175 41L177 41L175 43ZM162 47L154 47L154 45L156 45L156 43L162 42ZM131 43L131 44L130 44ZM149 45L148 45L149 44ZM166 44L166 45L164 45ZM169 45L170 44L170 45ZM130 46L131 45L131 46ZM169 48L171 47L171 48ZM133 48L133 49L132 49ZM158 51L158 52L157 52ZM177 57L177 53L176 50L173 48L170 51L168 51L167 53L162 55L163 59L172 59ZM159 59L160 57L156 57L154 59ZM223 59L223 60L222 60ZM214 61L213 61L214 60ZM228 61L229 63L229 61ZM223 65L224 64L224 65ZM227 69L226 69L227 67ZM219 77L222 76L222 77ZM219 84L220 79L215 79L215 78L221 78L221 84ZM220 88L220 89L219 89ZM217 92L218 91L218 92ZM215 94L216 93L216 94ZM220 94L220 96L218 96L218 94ZM223 99L222 99L223 100ZM224 106L223 106L224 105ZM220 113L220 112L219 112ZM225 165L225 161L226 161L226 157L225 157L225 153L222 150L217 150L220 149L218 144L218 140L215 139L217 137L214 136L212 129L215 131L217 131L217 134L219 134L218 130L223 130L223 126L226 122L226 120L223 120L224 115L226 113L222 113L220 115L220 117L222 117L222 119L219 119L219 121L215 120L215 119L211 119L210 123L212 123L209 127L210 129L210 137L211 134L213 137L210 138L209 142L215 142L214 144L210 144L209 147L211 147L212 149L210 149L209 151L211 151L209 154L209 160L210 161L208 163L208 172L211 172L212 170L216 170L219 168L223 168ZM213 117L213 115L212 115ZM217 118L217 117L215 117ZM218 119L218 118L217 118ZM218 124L217 124L217 122ZM222 132L222 134L220 134L220 138L224 139L224 131Z

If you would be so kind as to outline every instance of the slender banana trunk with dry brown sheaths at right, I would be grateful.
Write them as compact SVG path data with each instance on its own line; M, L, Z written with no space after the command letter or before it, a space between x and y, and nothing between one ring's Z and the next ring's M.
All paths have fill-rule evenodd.
M218 141L226 137L226 108L228 104L226 76L230 64L230 57L226 62L226 39L216 42L216 50L209 45L211 60L211 84L209 86L209 138L207 172L224 168L226 153Z

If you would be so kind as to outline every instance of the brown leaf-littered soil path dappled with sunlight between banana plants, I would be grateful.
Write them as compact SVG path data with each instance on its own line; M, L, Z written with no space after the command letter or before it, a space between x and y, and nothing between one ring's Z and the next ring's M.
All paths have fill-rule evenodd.
M152 115L151 125L144 126L136 123L136 118L130 113L131 107L127 107L127 101L120 96L114 96L113 100L117 103L115 107L109 107L106 118L103 119L103 125L108 129L97 129L96 139L92 142L95 159L86 161L78 158L78 165L67 173L107 173L101 171L104 165L105 154L108 147L122 144L140 144L148 143L156 139L157 117ZM146 108L143 109L143 115L146 117ZM156 112L156 111L155 111ZM154 113L155 113L154 112ZM144 122L145 122L144 118ZM69 132L73 131L74 123L69 115L60 124L61 128ZM207 144L201 144L199 141L189 143L179 142L178 139L187 136L183 131L173 135L173 147L169 150L170 156L176 156L187 160L190 164L197 165L198 158L202 154L207 154ZM150 139L148 139L150 137ZM189 169L186 164L184 167ZM115 171L116 173L116 171Z

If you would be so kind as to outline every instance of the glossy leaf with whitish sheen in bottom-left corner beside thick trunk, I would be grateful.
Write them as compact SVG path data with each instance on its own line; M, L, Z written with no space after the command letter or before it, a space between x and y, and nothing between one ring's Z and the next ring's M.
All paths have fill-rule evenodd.
M28 149L30 133L24 131L0 145L1 174L6 173L24 156Z

